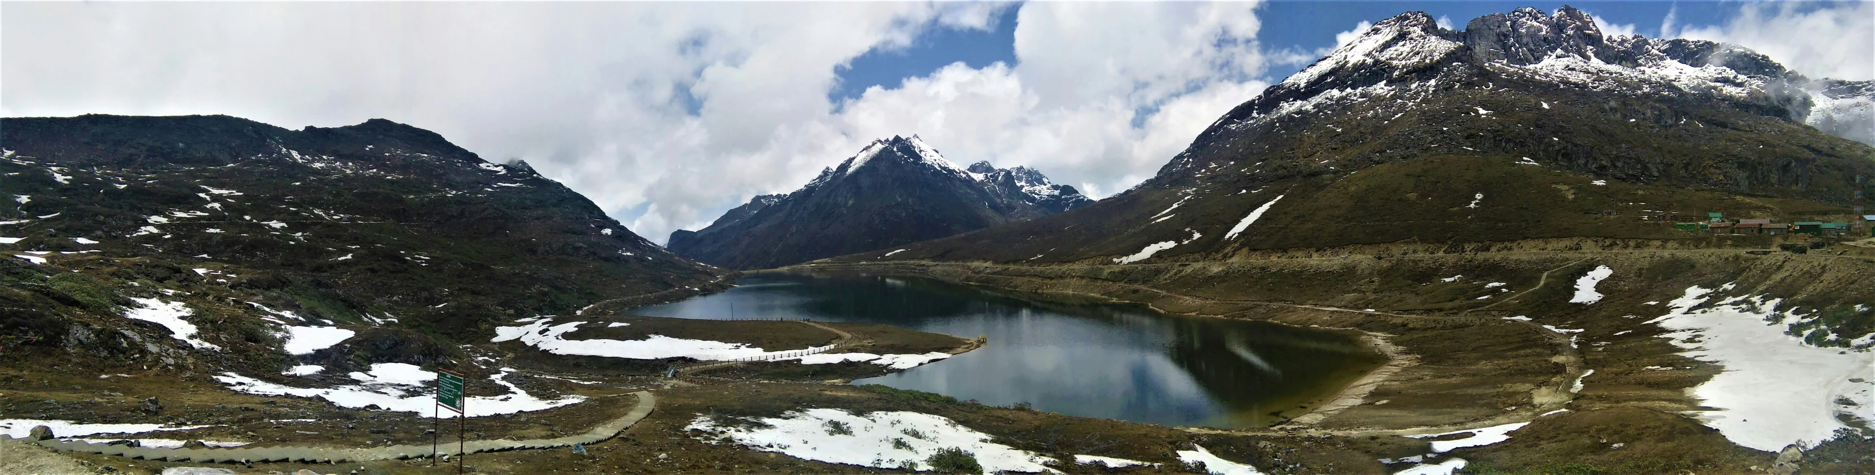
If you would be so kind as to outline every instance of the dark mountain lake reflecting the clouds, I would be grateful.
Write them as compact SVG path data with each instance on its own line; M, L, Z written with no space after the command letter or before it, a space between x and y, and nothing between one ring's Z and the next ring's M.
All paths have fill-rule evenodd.
M686 319L885 323L975 351L853 381L1035 409L1178 426L1268 426L1333 398L1384 357L1356 334L1164 315L1144 306L1037 300L930 278L861 272L742 278L741 287L632 310Z

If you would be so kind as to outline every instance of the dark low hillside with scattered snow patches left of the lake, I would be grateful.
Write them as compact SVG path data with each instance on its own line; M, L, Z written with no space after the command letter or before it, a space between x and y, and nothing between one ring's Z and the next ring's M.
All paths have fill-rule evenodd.
M270 366L324 332L356 334L332 349L341 368L428 362L486 340L495 319L677 299L728 274L523 161L390 120L294 131L90 115L4 118L0 131L0 353L15 357ZM223 351L167 351L180 345L171 323ZM296 330L309 327L326 330Z

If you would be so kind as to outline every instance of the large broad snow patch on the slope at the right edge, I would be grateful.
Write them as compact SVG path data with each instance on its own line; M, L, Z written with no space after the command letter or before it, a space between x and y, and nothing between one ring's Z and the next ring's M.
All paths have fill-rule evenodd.
M1776 299L1740 299L1693 310L1710 300L1712 289L1688 287L1654 319L1680 355L1725 366L1691 389L1699 419L1732 443L1779 451L1789 443L1815 447L1845 424L1838 415L1875 421L1875 353L1813 347L1783 332L1783 315L1772 315ZM1770 321L1770 323L1766 323ZM1862 379L1851 383L1849 379ZM1838 404L1838 400L1854 406Z

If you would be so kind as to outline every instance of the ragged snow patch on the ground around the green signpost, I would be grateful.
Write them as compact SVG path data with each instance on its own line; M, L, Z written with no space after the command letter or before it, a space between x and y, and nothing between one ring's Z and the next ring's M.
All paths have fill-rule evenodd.
M502 396L467 396L463 409L469 409L469 417L542 411L587 400L585 396L564 396L557 400L534 398L532 394L527 394L527 391L502 381L504 375L508 375L506 368L488 379L508 387L510 392ZM424 372L412 364L379 362L371 364L369 374L352 372L351 377L362 383L338 387L287 387L231 372L216 375L216 381L248 394L322 398L339 407L366 407L377 404L377 407L382 407L384 411L418 415L429 415L437 402L435 387L428 383L435 381L437 374ZM442 417L456 417L456 413L442 411Z

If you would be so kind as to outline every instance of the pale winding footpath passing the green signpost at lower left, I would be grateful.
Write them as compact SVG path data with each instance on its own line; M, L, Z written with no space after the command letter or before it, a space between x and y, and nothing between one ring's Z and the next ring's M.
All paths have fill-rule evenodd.
M559 449L572 447L574 443L589 445L600 443L619 436L638 421L643 421L658 406L658 398L651 396L649 391L632 392L638 396L638 406L624 417L613 419L606 424L598 424L587 434L555 437L555 439L482 439L467 441L458 451L458 445L439 445L435 447L437 456L456 456L461 452L501 452L501 451L525 451L525 449ZM0 436L8 437L8 436ZM84 443L84 441L60 441L43 439L30 441L39 447L68 452L94 452L94 454L112 454L124 458L142 458L142 460L165 460L165 462L308 462L308 464L336 464L336 462L366 462L366 460L403 460L403 458L428 458L431 456L431 447L422 445L388 445L388 447L369 447L369 449L339 449L339 447L257 447L257 449L150 449L150 447L126 447L126 445L105 445L105 443Z

